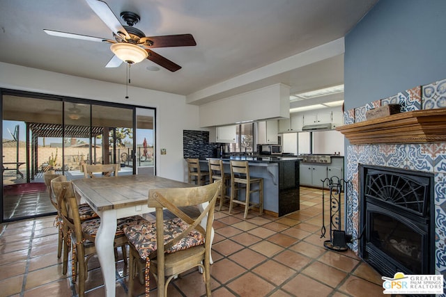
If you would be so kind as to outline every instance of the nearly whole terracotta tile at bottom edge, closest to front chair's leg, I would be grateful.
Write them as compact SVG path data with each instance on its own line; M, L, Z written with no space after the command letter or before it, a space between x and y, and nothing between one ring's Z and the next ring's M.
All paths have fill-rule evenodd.
M270 291L275 289L275 286L250 272L233 280L226 287L229 287L229 289L243 297L266 296Z

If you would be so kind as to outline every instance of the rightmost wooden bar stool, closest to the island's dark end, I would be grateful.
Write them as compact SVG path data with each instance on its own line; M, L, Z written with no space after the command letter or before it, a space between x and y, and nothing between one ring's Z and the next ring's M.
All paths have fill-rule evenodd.
M252 189L252 184L259 184L259 188ZM238 191L245 189L245 200L238 200ZM252 193L259 192L259 203L253 203L250 200ZM229 202L229 214L231 214L233 203L245 205L245 215L247 218L248 210L259 207L260 214L263 214L263 178L251 177L249 175L248 161L231 160L231 200Z

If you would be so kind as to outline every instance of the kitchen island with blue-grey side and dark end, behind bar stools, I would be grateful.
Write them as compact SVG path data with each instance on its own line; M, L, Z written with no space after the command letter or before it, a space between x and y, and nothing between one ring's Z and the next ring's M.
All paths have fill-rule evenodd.
M300 209L300 158L295 156L231 156L221 158L221 160L225 173L231 172L230 160L248 161L250 175L263 178L263 210L266 214L284 216ZM201 159L200 162L203 170L208 168L208 159ZM252 201L258 202L258 196L254 195Z

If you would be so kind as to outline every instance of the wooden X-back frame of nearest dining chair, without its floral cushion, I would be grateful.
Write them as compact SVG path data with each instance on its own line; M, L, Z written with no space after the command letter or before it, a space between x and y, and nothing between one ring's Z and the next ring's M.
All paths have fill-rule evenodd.
M158 296L164 296L165 290L167 289L167 284L169 284L170 278L167 281L167 284L164 284L164 251L172 248L176 243L183 239L187 234L190 234L192 230L197 230L201 233L203 238L205 239L205 252L204 252L204 270L208 275L208 280L210 280L210 272L209 272L209 264L210 264L210 241L212 234L212 224L214 220L214 210L215 210L215 200L217 200L217 196L220 192L222 182L218 181L215 183L208 184L206 186L197 186L193 188L156 188L150 190L148 193L148 207L155 207L155 216L156 216L156 225L162 226L164 225L164 210L168 209L174 215L178 216L184 220L189 227L186 230L178 234L174 239L164 244L157 244L157 252L156 255L156 267L157 267L157 287ZM201 208L201 214L198 218L191 218L187 214L185 214L178 207L188 207L197 205ZM156 241L157 243L164 242L164 228L156 228ZM155 253L153 253L155 254ZM177 254L176 252L174 254ZM169 255L174 255L169 254ZM190 255L188 253L184 253L183 255L194 257L192 261L196 263L197 259L195 259L196 255ZM187 258L178 259L178 266L185 265L187 267ZM186 263L186 264L181 264ZM192 267L197 266L193 265ZM192 268L190 267L190 268ZM207 269L206 269L207 267ZM208 289L208 285L206 285L206 289ZM164 292L161 292L164 291ZM210 293L210 286L209 286ZM210 295L209 295L210 296Z

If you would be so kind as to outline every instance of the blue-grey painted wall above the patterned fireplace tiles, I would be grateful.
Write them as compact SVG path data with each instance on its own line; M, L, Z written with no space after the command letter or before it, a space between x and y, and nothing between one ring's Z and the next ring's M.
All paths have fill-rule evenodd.
M345 110L440 79L444 0L380 0L345 37Z

